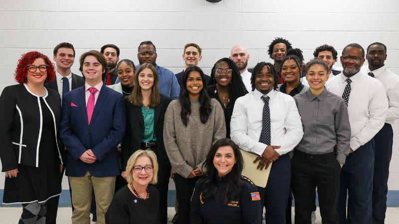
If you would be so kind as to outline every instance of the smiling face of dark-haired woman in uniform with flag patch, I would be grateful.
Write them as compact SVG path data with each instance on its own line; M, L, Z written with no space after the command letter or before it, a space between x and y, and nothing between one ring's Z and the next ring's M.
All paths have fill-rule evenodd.
M219 177L228 174L233 169L235 162L234 151L229 145L220 146L213 157L213 166Z

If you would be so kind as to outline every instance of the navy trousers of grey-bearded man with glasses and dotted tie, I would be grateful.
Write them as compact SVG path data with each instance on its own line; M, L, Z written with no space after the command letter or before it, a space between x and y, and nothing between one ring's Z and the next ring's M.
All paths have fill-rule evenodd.
M346 157L340 175L337 212L340 224L372 224L374 139ZM348 214L346 202L348 199Z

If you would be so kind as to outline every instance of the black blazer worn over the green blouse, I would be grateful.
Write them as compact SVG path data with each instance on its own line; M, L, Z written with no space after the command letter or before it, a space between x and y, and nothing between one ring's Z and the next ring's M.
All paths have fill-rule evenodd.
M160 95L161 101L154 108L154 135L157 138L157 155L158 164L162 166L170 166L168 155L166 154L164 145L164 120L165 112L168 108L171 98ZM122 170L126 169L129 157L141 148L141 139L144 135L144 120L141 113L141 107L133 106L129 102L126 103L126 134L122 140Z

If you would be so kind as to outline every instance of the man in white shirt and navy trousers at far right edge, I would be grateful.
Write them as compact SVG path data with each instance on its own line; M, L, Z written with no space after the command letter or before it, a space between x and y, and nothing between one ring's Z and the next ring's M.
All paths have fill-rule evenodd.
M387 69L387 47L379 42L367 48L369 62L367 73L383 84L389 101L384 127L374 136L376 153L373 178L373 224L384 224L387 211L387 192L390 161L392 156L392 124L399 118L399 77Z

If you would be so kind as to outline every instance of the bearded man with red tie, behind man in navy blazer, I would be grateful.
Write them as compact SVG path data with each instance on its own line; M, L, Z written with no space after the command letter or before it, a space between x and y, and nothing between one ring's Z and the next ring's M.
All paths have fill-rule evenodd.
M119 47L114 44L106 44L101 47L101 54L107 59L107 75L104 78L104 84L107 86L114 85L115 81L118 79L118 74L116 74L116 64L119 61Z

